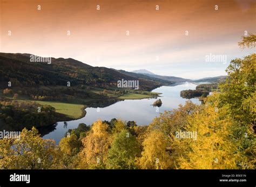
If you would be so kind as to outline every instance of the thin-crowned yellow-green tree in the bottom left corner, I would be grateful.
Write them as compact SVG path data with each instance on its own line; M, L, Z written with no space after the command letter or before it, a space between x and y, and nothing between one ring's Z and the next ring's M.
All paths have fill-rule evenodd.
M23 129L19 138L0 140L1 169L54 169L59 151L55 141L44 140L38 130Z

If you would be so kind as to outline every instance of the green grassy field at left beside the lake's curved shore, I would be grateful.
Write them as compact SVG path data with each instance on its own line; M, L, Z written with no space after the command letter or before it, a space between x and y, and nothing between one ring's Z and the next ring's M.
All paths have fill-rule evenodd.
M41 105L50 105L56 109L56 112L68 115L72 118L78 119L83 115L84 105L54 102L54 101L35 101Z

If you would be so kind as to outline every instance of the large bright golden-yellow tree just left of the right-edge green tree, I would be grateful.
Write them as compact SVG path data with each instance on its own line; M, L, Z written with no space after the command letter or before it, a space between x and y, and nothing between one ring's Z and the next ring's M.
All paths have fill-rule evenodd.
M196 138L173 138L173 155L179 169L235 169L240 159L231 141L231 120L225 107L207 103L200 113L188 117L184 131Z

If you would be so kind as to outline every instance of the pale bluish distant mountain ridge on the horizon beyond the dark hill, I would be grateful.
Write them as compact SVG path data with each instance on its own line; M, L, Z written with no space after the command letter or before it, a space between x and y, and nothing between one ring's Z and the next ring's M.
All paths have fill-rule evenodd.
M175 82L175 83L191 81L190 79L184 79L184 78L180 78L180 77L157 75L157 74L154 74L154 73L152 73L150 71L147 71L147 70L136 70L136 71L132 71L132 72L138 73L138 74L143 74L143 75L153 77L153 78L157 78L157 79L161 79L161 80Z

